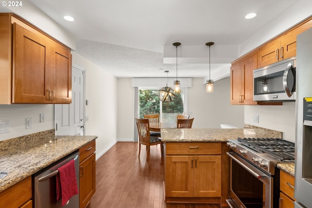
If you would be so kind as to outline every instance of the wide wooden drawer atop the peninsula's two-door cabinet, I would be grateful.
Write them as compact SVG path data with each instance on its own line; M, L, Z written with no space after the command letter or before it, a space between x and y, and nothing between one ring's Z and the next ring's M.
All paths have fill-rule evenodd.
M221 142L169 142L166 143L166 155L169 154L221 154Z

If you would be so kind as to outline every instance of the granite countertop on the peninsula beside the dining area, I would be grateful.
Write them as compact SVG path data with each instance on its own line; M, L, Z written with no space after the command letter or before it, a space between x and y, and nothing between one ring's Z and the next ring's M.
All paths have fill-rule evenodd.
M161 129L164 142L227 142L238 137L281 138L282 133L268 129Z

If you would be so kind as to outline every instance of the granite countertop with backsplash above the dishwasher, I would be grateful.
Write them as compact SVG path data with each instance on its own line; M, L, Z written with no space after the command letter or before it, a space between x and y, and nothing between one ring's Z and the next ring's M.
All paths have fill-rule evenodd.
M97 136L55 136L54 130L0 141L0 192L96 139Z

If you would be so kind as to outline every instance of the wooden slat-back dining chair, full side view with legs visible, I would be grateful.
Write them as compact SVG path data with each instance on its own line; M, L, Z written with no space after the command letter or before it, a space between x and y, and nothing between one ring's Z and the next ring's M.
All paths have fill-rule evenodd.
M138 132L138 157L140 157L141 144L146 146L146 160L150 157L150 146L160 144L160 151L162 156L162 142L161 139L155 136L150 135L150 124L147 118L139 119L135 118L137 123L137 132Z

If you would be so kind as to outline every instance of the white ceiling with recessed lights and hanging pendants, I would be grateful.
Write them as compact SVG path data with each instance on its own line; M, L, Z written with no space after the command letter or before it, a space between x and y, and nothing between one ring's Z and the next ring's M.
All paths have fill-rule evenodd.
M215 42L211 70L216 76L238 57L238 46L244 40L300 0L28 1L74 34L79 54L117 77L165 77L163 70L174 77L176 64L163 61L164 54L176 57L174 42L181 42L179 58L192 58L189 46L201 46L205 53L196 56L206 58L206 63L179 63L178 76L205 77L209 67L206 42ZM256 18L244 19L250 12L257 13ZM75 21L64 20L65 15ZM168 48L171 52L167 53Z

